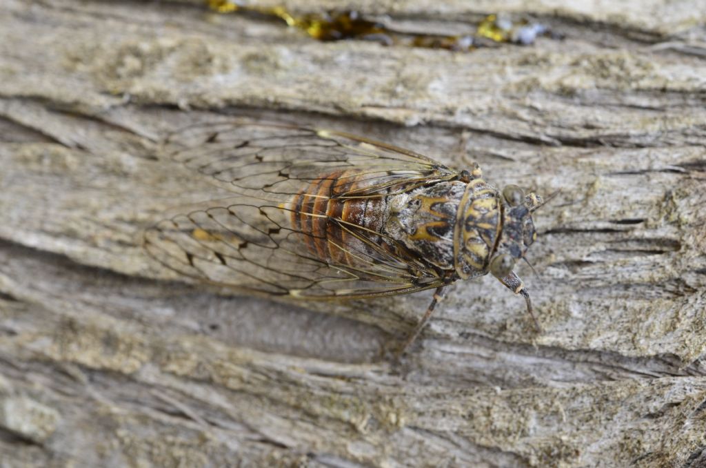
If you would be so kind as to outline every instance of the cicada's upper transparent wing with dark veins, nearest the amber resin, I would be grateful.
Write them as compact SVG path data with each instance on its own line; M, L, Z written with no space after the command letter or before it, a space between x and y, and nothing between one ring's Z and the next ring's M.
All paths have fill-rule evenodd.
M356 175L357 189L335 196L387 195L387 187L409 189L410 182L457 175L425 156L360 136L251 122L189 127L169 137L167 151L225 189L282 201L323 175L351 169L364 171Z

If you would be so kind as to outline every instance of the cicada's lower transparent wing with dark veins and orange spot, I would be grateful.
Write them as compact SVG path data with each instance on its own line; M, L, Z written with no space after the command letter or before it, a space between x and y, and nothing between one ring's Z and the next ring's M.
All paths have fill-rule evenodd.
M358 261L319 258L307 248L313 236L293 230L280 207L250 201L258 200L161 221L145 233L145 249L181 275L276 296L366 297L436 287L433 271L390 253L332 245Z

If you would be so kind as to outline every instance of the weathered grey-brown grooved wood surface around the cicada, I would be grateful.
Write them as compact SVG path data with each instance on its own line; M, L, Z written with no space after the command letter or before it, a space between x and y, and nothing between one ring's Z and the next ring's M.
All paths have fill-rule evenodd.
M455 54L199 1L2 2L0 466L706 463L706 4L357 4L566 38ZM429 293L288 305L150 262L146 226L223 195L160 138L244 111L561 188L540 278L520 267L543 332L494 279L459 283L395 366Z

